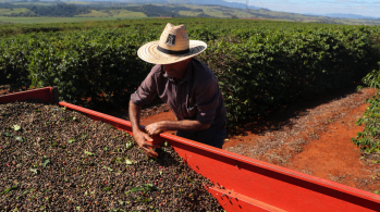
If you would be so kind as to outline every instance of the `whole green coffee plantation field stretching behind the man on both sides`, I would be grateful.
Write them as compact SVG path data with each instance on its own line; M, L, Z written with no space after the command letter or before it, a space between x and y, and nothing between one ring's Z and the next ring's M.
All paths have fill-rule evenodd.
M75 18L88 21L91 17L73 20ZM65 83L60 86L61 89L69 89L65 95L62 95L62 98L68 98L68 101L83 104L86 102L82 99L89 95L88 97L93 96L93 102L88 103L93 105L106 102L112 102L115 105L124 103L119 101L127 95L125 90L135 88L133 86L135 83L120 85L117 78L124 78L128 73L128 77L133 74L133 78L137 80L140 76L135 74L136 70L139 70L139 73L146 73L149 65L142 63L135 52L139 46L158 39L162 28L169 22L146 18L69 24L71 18L58 20L66 24L0 26L1 35L15 35L0 42L0 62L5 64L3 67L0 66L0 71L13 68L19 74L21 71L25 74L36 72L33 73L33 77L36 78L33 78L33 83L29 82L36 87L51 86L59 80L70 80L72 84L70 87L76 85L78 88L84 86L83 89L85 89L88 86L94 87L90 84L98 80L97 74L108 75L102 72L114 70L115 78L111 77L103 88L96 86L99 89L97 91L86 93L79 89L72 90L65 88L69 86ZM199 58L217 72L217 77L225 82L221 85L221 89L231 96L231 99L225 102L231 110L230 121L260 116L267 110L281 107L298 97L306 98L311 93L352 83L354 78L369 72L378 61L379 43L373 38L379 35L379 27L232 18L172 18L170 22L175 25L185 24L191 39L204 40L208 43L209 48ZM46 34L35 34L39 32L46 32ZM81 50L87 48L91 50ZM25 51L28 53L24 53ZM76 53L73 54L73 52ZM96 54L93 55L91 52ZM65 57L71 58L69 60ZM12 61L9 61L10 58ZM44 58L46 61L42 60ZM218 60L224 62L216 62ZM85 61L93 61L94 64ZM27 63L26 68L25 63ZM51 67L52 64L60 65ZM88 72L88 65L94 76L85 74ZM19 68L20 71L16 71ZM242 71L242 76L230 75L223 70ZM72 74L77 74L78 78L86 75L88 79L90 77L93 79L89 79L86 85L79 79L71 79L72 74L64 76L60 72L73 72ZM63 78L58 79L56 74ZM260 77L257 78L256 75ZM25 79L24 83L29 80L27 76L22 78L19 76L17 80ZM272 80L277 82L275 87L268 83ZM123 88L124 86L132 87ZM250 92L241 92L243 88L249 88ZM113 89L119 89L119 93L112 91ZM98 93L101 92L112 92L112 95L99 97ZM118 99L119 95L120 99ZM99 102L95 102L96 99Z

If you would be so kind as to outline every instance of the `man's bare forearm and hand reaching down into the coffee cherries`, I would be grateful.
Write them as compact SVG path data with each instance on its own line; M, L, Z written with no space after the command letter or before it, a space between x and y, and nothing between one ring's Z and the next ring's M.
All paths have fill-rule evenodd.
M130 121L132 124L133 138L137 142L138 147L142 148L144 152L149 157L152 157L152 158L158 157L158 153L149 149L149 147L158 148L159 146L148 142L148 141L152 141L154 139L149 137L146 133L139 129L139 119L140 119L142 107L136 105L132 101L130 101L128 112L130 112Z

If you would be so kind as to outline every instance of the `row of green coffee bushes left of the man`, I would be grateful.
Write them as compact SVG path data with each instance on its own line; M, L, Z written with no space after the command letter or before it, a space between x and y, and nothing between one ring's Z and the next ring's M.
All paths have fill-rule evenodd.
M194 28L201 40L222 29ZM223 29L225 32L225 29ZM162 26L32 33L0 40L0 85L12 90L59 86L61 100L88 108L127 105L151 68L137 49ZM192 30L191 30L192 32ZM223 33L220 33L223 35Z

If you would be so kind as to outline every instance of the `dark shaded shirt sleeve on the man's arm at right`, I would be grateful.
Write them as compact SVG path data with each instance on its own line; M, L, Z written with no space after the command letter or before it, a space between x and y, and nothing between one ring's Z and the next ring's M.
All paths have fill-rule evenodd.
M218 107L219 87L217 80L205 83L196 98L198 113L197 121L201 124L211 124Z

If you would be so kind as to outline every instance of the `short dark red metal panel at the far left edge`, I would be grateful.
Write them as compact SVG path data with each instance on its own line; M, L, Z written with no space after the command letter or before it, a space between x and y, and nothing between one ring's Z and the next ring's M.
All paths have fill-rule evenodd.
M52 88L46 87L0 96L0 103L28 100L39 100L39 102L44 103L53 102Z

